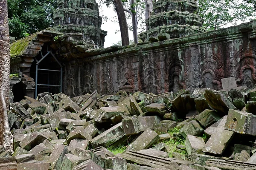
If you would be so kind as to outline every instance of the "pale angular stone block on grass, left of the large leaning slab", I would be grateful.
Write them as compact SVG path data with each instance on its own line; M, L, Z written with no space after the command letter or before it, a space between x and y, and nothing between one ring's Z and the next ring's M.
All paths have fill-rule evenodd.
M191 155L191 153L202 153L205 147L204 139L191 135L186 136L185 144L188 155Z

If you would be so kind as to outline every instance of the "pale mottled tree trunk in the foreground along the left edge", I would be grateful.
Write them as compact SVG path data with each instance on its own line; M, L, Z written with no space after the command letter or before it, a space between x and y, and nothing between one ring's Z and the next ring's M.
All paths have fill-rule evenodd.
M7 116L10 90L9 74L10 37L7 0L0 0L0 144L12 153L13 139Z

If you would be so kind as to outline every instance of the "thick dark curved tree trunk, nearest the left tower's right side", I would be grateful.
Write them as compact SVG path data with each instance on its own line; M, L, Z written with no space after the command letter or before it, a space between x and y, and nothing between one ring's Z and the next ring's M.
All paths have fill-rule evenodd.
M119 26L120 26L122 46L129 45L128 26L125 18L125 11L122 5L122 1L114 0L114 6L116 8L116 13L118 17Z

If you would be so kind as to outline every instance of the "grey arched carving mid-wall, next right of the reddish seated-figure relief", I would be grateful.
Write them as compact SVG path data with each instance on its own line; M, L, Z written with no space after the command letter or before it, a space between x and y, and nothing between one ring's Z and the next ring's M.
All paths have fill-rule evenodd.
M160 88L156 84L160 81L161 74L157 64L153 61L147 61L143 64L143 89L145 93L160 94Z

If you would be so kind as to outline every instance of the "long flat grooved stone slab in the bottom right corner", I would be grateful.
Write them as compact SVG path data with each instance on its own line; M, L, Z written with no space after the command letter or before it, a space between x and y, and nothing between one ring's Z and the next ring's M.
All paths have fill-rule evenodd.
M218 167L221 170L244 170L256 167L256 164L253 163L221 159L209 159L206 161L206 165Z

